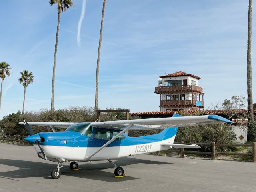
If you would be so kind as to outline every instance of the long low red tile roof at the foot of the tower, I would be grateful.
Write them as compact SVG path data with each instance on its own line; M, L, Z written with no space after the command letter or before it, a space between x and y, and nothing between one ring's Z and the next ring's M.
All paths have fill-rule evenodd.
M210 114L226 114L225 110L205 110L205 111L197 111L197 110L182 110L182 111L152 111L152 112L138 112L138 113L130 113L131 115L171 115L171 114L184 114L184 113L189 113L189 114L195 114L195 113L200 113L202 115L210 115ZM241 109L241 113L247 113L246 109ZM254 114L256 114L256 110L254 110Z

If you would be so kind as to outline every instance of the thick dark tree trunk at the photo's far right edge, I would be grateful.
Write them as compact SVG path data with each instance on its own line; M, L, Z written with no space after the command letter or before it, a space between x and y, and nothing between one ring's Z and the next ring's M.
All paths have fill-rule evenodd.
M247 108L249 114L249 120L254 119L253 115L253 102L252 102L252 0L249 0L248 10L248 38L247 38ZM248 132L251 133L253 127L248 124ZM248 134L248 140L251 140L252 136Z

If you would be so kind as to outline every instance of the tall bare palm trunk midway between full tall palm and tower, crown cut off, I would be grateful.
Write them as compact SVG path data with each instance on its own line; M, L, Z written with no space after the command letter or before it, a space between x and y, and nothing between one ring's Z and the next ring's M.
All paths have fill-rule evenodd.
M99 48L98 48L98 58L97 58L97 67L96 67L96 85L95 85L95 111L98 110L98 88L99 88L99 67L100 67L100 48L101 48L101 40L102 40L102 30L103 30L103 19L105 12L105 4L106 0L103 0L102 7L102 16L101 16L101 25L100 25L100 40L99 40Z

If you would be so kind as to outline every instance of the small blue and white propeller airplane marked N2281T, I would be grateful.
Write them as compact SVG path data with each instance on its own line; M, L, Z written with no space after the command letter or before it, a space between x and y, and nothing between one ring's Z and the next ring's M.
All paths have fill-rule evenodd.
M123 177L124 169L116 166L116 158L157 152L174 148L200 148L196 144L174 144L178 127L206 124L233 123L217 115L186 116L174 114L168 118L150 118L136 120L118 120L106 122L67 123L67 122L20 122L24 124L30 136L25 140L33 143L38 157L57 162L52 170L53 179L61 175L64 162L70 162L70 170L78 170L78 162L108 160L115 166L114 175ZM53 132L34 134L30 125L50 126ZM55 127L67 128L55 132ZM153 135L130 137L128 130L163 129Z

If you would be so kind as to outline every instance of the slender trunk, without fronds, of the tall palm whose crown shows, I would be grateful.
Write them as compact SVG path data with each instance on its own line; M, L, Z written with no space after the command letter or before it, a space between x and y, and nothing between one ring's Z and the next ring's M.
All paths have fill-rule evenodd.
M58 10L58 25L57 25L57 32L56 32L54 61L53 61L53 72L52 72L52 102L51 102L51 110L52 111L54 110L54 83L55 83L55 67L56 67L58 36L59 36L59 28L60 28L60 13L61 13L61 8L59 8L59 10Z

